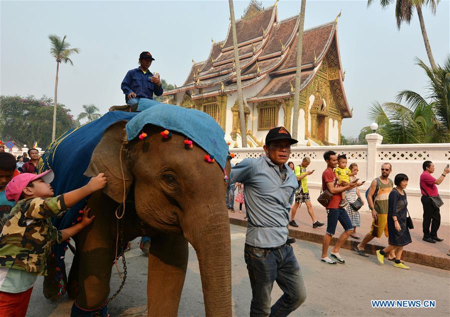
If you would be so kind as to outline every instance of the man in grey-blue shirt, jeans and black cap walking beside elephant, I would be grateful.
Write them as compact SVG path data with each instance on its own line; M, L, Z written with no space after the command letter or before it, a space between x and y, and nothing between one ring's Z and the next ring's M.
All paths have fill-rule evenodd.
M289 209L298 183L286 162L297 140L282 126L266 136L265 155L231 169L231 182L245 185L248 224L244 258L252 286L250 315L287 316L306 299L300 266L287 241ZM284 294L271 307L273 282Z

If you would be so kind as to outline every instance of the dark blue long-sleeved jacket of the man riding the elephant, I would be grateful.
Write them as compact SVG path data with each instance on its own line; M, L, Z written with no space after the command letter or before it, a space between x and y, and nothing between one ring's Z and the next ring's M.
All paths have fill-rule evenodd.
M144 73L141 67L131 69L125 75L121 84L121 89L127 96L130 92L136 93L139 98L153 99L153 94L160 96L163 94L163 85L157 86L152 82L153 73Z

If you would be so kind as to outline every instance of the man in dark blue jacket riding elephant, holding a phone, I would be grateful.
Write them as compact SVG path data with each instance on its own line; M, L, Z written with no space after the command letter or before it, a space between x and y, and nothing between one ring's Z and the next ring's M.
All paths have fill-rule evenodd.
M155 58L148 51L143 51L139 55L140 66L131 69L122 81L122 91L125 93L125 101L131 107L136 106L140 98L153 99L153 94L160 96L163 94L161 78L149 70Z

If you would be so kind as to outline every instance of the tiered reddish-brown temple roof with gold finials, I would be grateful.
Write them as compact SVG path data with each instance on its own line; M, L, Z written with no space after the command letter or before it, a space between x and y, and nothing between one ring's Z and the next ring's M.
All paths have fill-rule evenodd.
M255 6L254 1L250 3L246 14L236 20L242 87L249 87L269 77L268 83L256 95L247 98L247 102L292 95L289 82L295 82L298 26L299 16L278 21L277 5L262 9ZM327 58L328 66L339 69L338 78L330 82L337 105L343 117L351 117L342 83L337 18L333 22L304 30L300 90L312 82L327 54L333 57ZM211 90L217 85L218 88ZM165 91L164 95L194 88L210 91L193 93L192 99L237 90L231 24L225 40L213 42L205 61L193 61L184 84Z

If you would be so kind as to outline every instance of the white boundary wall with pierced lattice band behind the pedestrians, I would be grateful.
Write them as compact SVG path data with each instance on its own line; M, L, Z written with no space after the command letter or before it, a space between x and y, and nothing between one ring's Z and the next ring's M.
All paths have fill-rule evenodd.
M436 167L432 174L438 178L446 164L450 164L450 143L433 144L381 144L382 136L376 133L367 134L367 145L333 145L333 146L295 146L291 149L289 161L295 165L301 163L303 157L311 158L308 170L315 169L315 172L308 176L308 189L311 195L311 202L314 206L320 206L317 197L320 193L321 176L326 168L323 160L323 153L333 150L338 154L347 154L347 166L350 163L357 163L359 167L358 178L366 180L360 188L360 194L364 197L364 206L360 211L367 211L367 201L365 201L365 190L375 177L381 174L381 164L389 162L392 164L390 178L393 180L397 173L408 175L408 187L406 193L408 197L408 211L411 217L422 219L422 204L420 202L419 177L422 173L422 163L430 160ZM232 162L236 163L246 157L257 158L264 150L258 148L230 148L230 152L236 156ZM439 194L444 202L440 207L441 222L450 223L450 174L444 178L440 185L437 185Z

